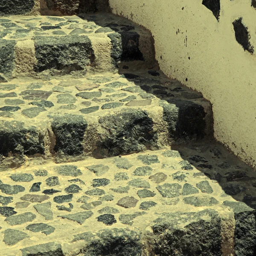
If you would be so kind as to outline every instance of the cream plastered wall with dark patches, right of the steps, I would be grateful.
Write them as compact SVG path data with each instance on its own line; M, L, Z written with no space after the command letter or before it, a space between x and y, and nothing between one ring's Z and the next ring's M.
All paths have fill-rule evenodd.
M256 46L251 1L221 0L219 22L202 0L109 1L114 14L152 32L160 69L210 100L215 138L255 168L256 56L237 43L232 24L243 17Z

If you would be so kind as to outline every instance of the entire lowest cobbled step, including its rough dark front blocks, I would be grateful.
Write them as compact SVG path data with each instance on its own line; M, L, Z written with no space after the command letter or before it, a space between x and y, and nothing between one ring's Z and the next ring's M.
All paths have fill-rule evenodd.
M1 172L4 256L253 256L256 173L214 141Z

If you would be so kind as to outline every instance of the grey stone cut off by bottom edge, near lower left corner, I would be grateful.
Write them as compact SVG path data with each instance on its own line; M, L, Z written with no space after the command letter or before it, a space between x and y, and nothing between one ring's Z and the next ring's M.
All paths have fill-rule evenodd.
M64 253L61 249L61 244L51 242L47 244L38 244L30 247L20 249L22 256L64 256Z

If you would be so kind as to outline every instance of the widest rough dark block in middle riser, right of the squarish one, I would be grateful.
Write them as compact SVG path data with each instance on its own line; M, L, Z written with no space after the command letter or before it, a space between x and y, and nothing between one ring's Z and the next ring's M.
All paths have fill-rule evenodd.
M99 124L105 128L107 138L97 143L96 152L104 156L130 154L146 149L145 145L155 145L153 120L146 111L122 110L100 117Z

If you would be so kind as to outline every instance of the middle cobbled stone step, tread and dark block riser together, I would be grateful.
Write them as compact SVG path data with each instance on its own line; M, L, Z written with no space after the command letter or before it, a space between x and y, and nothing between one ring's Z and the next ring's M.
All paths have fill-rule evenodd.
M211 104L155 70L0 83L0 168L131 154L212 136ZM75 76L76 77L76 76Z

